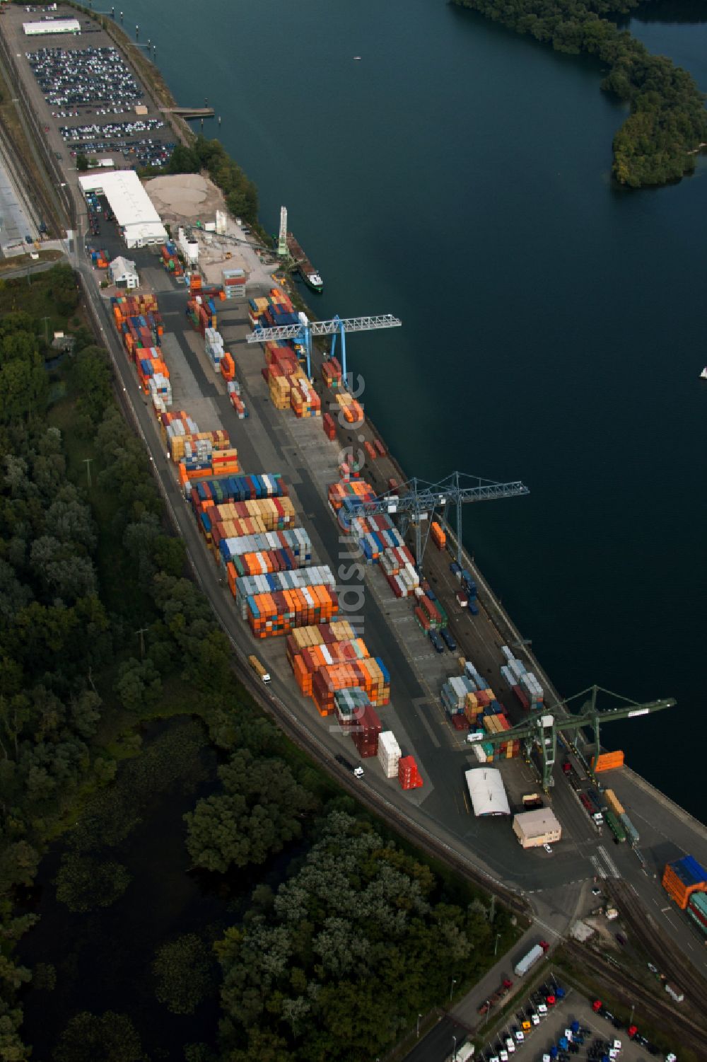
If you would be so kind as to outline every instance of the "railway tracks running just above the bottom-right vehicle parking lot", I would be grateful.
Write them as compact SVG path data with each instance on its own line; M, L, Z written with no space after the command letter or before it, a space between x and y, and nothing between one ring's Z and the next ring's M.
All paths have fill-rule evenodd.
M617 970L588 948L574 941L568 941L566 948L571 958L584 970L594 974L598 982L604 984L626 1008L633 1007L636 1024L640 1027L641 1015L652 1020L661 1030L674 1033L680 1046L689 1047L697 1058L705 1057L707 1023L678 1012L668 999L663 1003L626 970Z

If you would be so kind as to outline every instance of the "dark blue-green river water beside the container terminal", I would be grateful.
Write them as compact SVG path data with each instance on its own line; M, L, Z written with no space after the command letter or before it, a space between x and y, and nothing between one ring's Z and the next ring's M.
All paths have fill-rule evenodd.
M678 699L604 740L704 818L707 160L617 190L599 67L443 0L121 6L271 230L288 205L317 315L402 319L348 352L407 472L530 486L465 539L564 696ZM631 27L707 89L700 7Z

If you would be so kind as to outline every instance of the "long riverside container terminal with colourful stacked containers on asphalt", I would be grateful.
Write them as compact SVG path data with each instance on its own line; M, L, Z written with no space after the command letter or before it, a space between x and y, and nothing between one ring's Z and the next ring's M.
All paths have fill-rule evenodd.
M59 5L57 17L70 11ZM24 8L5 10L2 61L20 88L30 124L44 127L46 147L52 148L66 143L67 118L52 115L56 107L45 99L25 52L79 49L82 38L30 39L23 20ZM91 47L100 47L103 36L104 31L93 33ZM115 136L115 116L106 115L105 121ZM91 129L93 134L97 143L108 142L100 130ZM171 132L163 134L167 142L170 137ZM57 153L47 154L56 170ZM123 408L149 448L195 578L231 638L248 688L342 784L397 828L476 876L519 912L531 911L534 926L524 940L534 944L540 935L552 945L565 939L574 920L591 910L592 889L601 888L633 919L645 946L660 952L686 1000L700 1005L707 974L707 908L700 898L707 890L705 826L626 766L592 776L587 770L592 750L584 734L568 725L566 708L554 713L559 734L548 723L539 735L544 747L546 739L557 739L554 763L546 755L544 777L535 753L524 755L528 735L514 733L513 726L552 714L549 706L561 698L479 568L460 554L441 510L417 569L413 562L420 561L432 513L407 529L389 512L382 523L372 523L380 519L372 514L351 529L353 534L345 530L362 517L360 500L344 498L370 501L397 494L402 501L409 493L407 475L375 427L358 421L356 400L342 386L343 366L335 360L313 347L305 372L299 352L283 339L270 348L248 342L254 326L287 328L299 321L273 281L276 258L269 266L253 237L235 220L213 213L199 219L210 230L183 234L178 249L163 240L139 246L137 240L126 251L111 220L120 204L115 194L111 200L109 169L105 189L92 177L82 188L70 161L70 156L64 159L58 182L74 222L67 240L70 261L113 358ZM114 162L124 165L122 152L120 157L114 152ZM182 178L170 179L178 185ZM185 208L185 228L195 222ZM188 255L185 260L188 246L197 247L196 263ZM101 289L105 267L123 255L134 262L139 287ZM330 333L337 330L334 325ZM341 336L343 341L343 330ZM298 338L306 344L307 337ZM349 339L349 358L365 341L365 332ZM284 371L271 371L273 362ZM353 462L345 452L351 447ZM493 469L483 472L493 475ZM251 480L248 495L232 484L224 494L228 476L259 479ZM466 482L448 480L441 490L449 494L452 485ZM477 490L483 485L473 482ZM522 497L496 503L506 507L508 520L519 519ZM220 504L224 508L217 509ZM468 508L467 524L472 515ZM234 543L246 535L248 552L239 552ZM280 537L265 541L268 535ZM266 579L256 573L266 570ZM351 624L340 629L340 648L317 649L318 636L311 632L308 644L294 637L296 629L328 620ZM246 664L253 655L260 671ZM263 674L270 676L266 683ZM630 685L626 675L625 692ZM346 725L360 707L351 688L367 693L356 740ZM569 712L586 712L590 699L589 693L570 702ZM606 705L623 716L646 710L619 699ZM667 707L669 719L668 702L652 707ZM590 725L591 713L586 718ZM640 726L640 718L632 725ZM394 739L379 739L381 730ZM475 731L478 740L469 742ZM614 747L610 725L602 725L601 740ZM363 776L355 777L347 763L362 767ZM513 816L475 815L466 781L472 769L500 772L510 810L530 813L537 795L552 815L552 843L540 834L536 843L536 835L520 827L514 833ZM552 783L547 791L544 781ZM527 845L519 843L521 836L530 838ZM685 856L693 862L680 862ZM670 872L668 864L674 868ZM476 1001L466 1011L460 1005L460 1017L476 1018Z

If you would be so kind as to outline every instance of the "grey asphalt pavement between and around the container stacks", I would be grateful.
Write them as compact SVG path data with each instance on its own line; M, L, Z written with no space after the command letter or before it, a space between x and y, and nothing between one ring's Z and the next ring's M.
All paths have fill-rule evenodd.
M114 235L93 241L106 246L109 256L121 250ZM245 344L249 332L246 307L235 302L221 303L218 307L218 327L225 346L236 360L237 378L243 387L249 417L239 421L232 411L225 383L213 373L204 353L203 340L186 322L186 291L177 287L160 271L154 251L134 254L138 269L151 279L161 279L158 288L159 305L168 335L165 349L173 372L174 408L186 408L203 430L225 428L238 447L241 465L245 470L281 470L292 486L292 497L301 524L307 528L318 562L329 563L340 581L342 611L348 618L361 618L361 634L370 652L382 656L391 671L392 703L380 710L385 727L394 731L403 754L412 754L419 763L425 785L421 789L403 793L394 782L384 781L376 759L364 764L362 785L380 788L395 806L410 808L418 805L426 821L437 836L449 835L461 841L473 853L473 859L493 877L512 884L525 893L547 893L552 896L552 908L573 912L577 905L589 903L589 885L594 880L617 875L637 883L650 894L650 902L659 912L668 907L656 888L653 873L659 873L665 861L672 858L682 844L695 851L702 845L703 835L695 834L693 820L675 823L668 805L656 804L643 789L635 786L628 773L614 772L610 785L625 803L639 829L641 849L649 862L650 873L640 870L636 855L627 845L613 843L608 832L599 834L589 821L576 794L563 778L550 798L553 810L563 825L563 840L553 845L552 853L545 850L520 849L511 830L510 820L475 819L470 813L464 771L477 761L465 744L463 733L450 725L439 702L443 681L460 673L459 655L473 661L490 686L504 703L512 718L519 720L522 709L500 678L502 663L500 646L507 640L498 629L495 610L483 606L478 617L462 610L453 602L458 584L449 572L449 555L439 553L431 544L425 559L425 572L435 590L443 595L450 616L450 627L459 651L437 654L412 617L410 600L396 599L377 566L361 566L351 571L351 544L340 535L326 500L326 489L337 479L340 447L330 443L320 418L298 421L290 411L279 412L272 406L266 386L261 376L262 353L258 346ZM157 275L156 274L157 271ZM167 290L166 290L167 289ZM253 292L255 294L255 291ZM360 339L359 342L365 342ZM137 383L134 382L137 389ZM326 395L324 396L326 399ZM325 407L326 408L326 407ZM153 438L156 429L152 427ZM373 438L368 426L365 438ZM347 442L346 436L342 442ZM352 439L358 443L359 440ZM365 477L375 486L383 489L391 475L399 475L389 459L381 459L366 466ZM185 502L180 504L184 507ZM515 518L514 509L522 499L499 502L508 508L508 518ZM204 549L200 546L200 549ZM212 560L213 578L218 569ZM221 589L226 607L234 610L228 589ZM364 601L360 607L361 599ZM235 612L235 610L234 610ZM329 719L321 719L312 702L303 697L284 657L281 639L255 641L245 623L239 620L239 640L261 656L274 679L277 692L287 699L308 726L317 735L331 753L339 751L357 759L352 743L344 737ZM637 723L636 725L640 725ZM523 793L537 789L535 775L522 759L501 763L500 769L512 807L520 803ZM672 835L672 836L671 836ZM562 887L562 888L559 888ZM570 911L571 909L571 911ZM662 912L668 925L680 925L687 935L694 957L700 957L696 936L682 925L679 912L669 908Z

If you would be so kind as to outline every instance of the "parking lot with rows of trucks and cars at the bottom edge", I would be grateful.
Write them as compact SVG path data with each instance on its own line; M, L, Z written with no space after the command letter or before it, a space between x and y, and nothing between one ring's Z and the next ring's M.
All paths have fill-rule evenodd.
M552 988L550 981L547 982ZM488 1062L489 1059L499 1058L501 1041L506 1037L513 1038L514 1027L519 1027L521 1017L528 1021L528 1008L537 1009L538 996L522 1000L515 1014L508 1015L507 1024L498 1032L493 1041L482 1046L478 1059ZM524 1012L524 1013L523 1013ZM517 1059L518 1062L542 1062L542 1057L549 1054L550 1048L556 1045L559 1038L565 1034L565 1030L571 1027L572 1022L580 1023L582 1028L588 1029L589 1034L584 1034L583 1044L577 1044L579 1051L570 1052L570 1059L577 1062L587 1062L592 1057L597 1057L593 1051L599 1049L599 1044L608 1048L609 1042L620 1041L621 1049L619 1062L651 1062L652 1059L662 1060L663 1056L657 1051L655 1055L645 1047L631 1041L624 1029L616 1029L611 1022L599 1014L596 1014L588 1000L571 988L566 990L566 995L553 1007L547 1008L547 1014L538 1014L539 1025L532 1025L531 1030L525 1032L525 1039L521 1044L516 1043L513 1054L508 1054L508 1062ZM635 1023L640 1031L640 1015L635 1016ZM478 1039L481 1034L478 1034ZM601 1054L599 1055L601 1058Z

